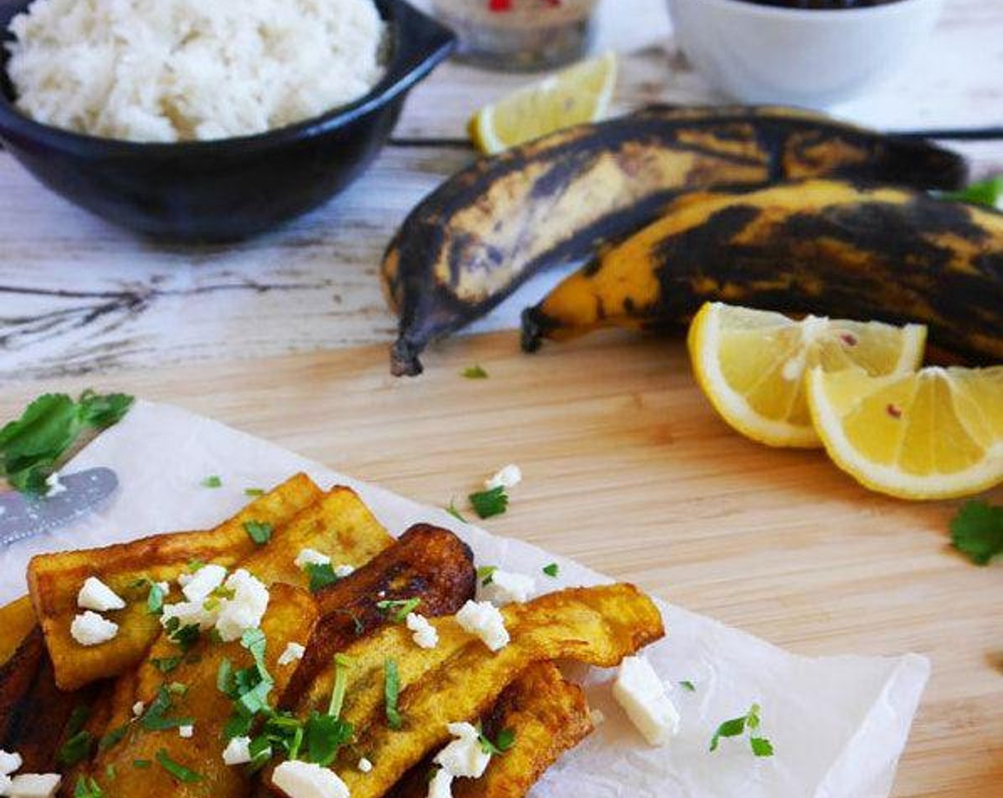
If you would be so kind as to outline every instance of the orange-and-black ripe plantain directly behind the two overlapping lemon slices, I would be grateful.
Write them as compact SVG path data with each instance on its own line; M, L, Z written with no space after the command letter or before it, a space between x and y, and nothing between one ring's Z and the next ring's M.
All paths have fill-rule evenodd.
M523 315L523 346L597 327L679 327L707 300L924 322L931 342L1003 360L1003 214L911 189L792 182L683 198Z

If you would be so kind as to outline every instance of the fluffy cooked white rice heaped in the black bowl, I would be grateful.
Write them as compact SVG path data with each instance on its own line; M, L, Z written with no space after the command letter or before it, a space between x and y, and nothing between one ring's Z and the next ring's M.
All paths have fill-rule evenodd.
M247 136L379 80L373 0L35 0L7 71L33 119L134 142Z

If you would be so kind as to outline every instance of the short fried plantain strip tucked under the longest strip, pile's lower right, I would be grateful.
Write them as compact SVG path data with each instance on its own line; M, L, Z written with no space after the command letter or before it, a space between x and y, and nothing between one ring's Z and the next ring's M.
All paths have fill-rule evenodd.
M593 729L585 692L550 661L530 666L506 688L482 727L491 741L507 731L515 742L491 757L479 779L456 779L452 798L524 798L544 771ZM425 798L430 767L429 759L412 768L390 798Z

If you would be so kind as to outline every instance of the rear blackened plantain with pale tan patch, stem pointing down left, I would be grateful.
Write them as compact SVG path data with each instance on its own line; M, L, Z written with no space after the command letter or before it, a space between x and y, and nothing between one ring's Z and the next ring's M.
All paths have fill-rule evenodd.
M816 176L950 189L966 169L922 142L778 107L654 106L481 159L423 200L384 256L400 317L391 370L419 373L429 341L532 274L630 235L682 192Z

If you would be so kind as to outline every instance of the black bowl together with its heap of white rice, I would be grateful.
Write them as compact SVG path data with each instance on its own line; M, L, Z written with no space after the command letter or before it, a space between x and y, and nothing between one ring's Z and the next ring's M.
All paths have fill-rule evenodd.
M403 0L0 4L0 141L144 234L228 240L324 203L453 34Z

